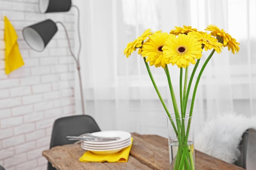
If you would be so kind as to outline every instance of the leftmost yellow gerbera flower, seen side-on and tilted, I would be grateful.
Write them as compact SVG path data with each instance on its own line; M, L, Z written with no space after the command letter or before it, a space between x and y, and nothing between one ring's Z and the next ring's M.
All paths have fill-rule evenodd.
M146 38L148 38L149 35L153 34L153 32L151 32L150 30L151 29L147 29L136 40L134 40L133 42L129 42L127 44L126 48L124 49L124 55L126 55L127 58L129 57L129 55L131 55L133 51L136 51L136 49L142 46L144 40L146 40Z

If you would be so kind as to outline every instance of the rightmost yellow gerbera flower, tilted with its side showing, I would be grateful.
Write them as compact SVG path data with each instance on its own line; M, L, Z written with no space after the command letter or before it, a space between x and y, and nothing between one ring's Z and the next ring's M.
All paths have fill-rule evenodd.
M229 35L228 33L225 33L225 31L223 31L223 29L219 29L217 26L215 25L208 25L207 29L208 31L212 31L211 35L215 36L219 42L221 42L223 44L224 47L228 47L228 50L231 49L231 52L233 54L235 54L240 50L240 47L238 45L240 45L239 42L236 42L236 39L232 38L231 35Z

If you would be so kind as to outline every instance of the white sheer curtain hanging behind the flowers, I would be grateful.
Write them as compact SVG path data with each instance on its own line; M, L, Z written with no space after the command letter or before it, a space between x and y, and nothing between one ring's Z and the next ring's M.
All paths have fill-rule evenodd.
M255 0L88 0L81 9L81 69L85 112L102 130L126 130L166 136L166 113L142 57L123 53L145 29L169 32L190 25L204 30L215 24L240 42L233 55L215 53L198 87L194 106L195 132L217 113L256 115ZM207 53L204 52L202 60ZM201 64L203 62L201 61ZM169 66L178 100L177 66ZM172 110L162 68L151 67L159 90ZM76 83L78 84L78 83ZM75 89L79 110L79 88ZM172 111L171 111L172 112Z

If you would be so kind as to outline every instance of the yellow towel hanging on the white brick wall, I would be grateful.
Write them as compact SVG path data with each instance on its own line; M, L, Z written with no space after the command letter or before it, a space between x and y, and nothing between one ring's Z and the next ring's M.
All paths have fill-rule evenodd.
M17 39L15 29L8 18L4 16L5 74L9 74L24 65Z

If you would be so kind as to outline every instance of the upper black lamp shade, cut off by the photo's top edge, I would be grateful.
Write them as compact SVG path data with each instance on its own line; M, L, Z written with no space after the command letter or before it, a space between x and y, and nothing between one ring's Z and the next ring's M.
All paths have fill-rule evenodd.
M66 12L71 8L71 0L39 0L40 13Z

